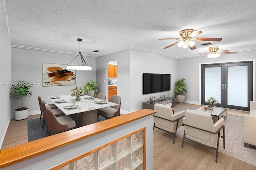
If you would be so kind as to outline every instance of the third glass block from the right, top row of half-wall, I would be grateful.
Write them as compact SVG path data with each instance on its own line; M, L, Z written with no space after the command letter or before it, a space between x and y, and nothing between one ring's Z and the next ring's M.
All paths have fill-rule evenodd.
M109 166L116 161L116 143L98 151L100 160L100 169Z

